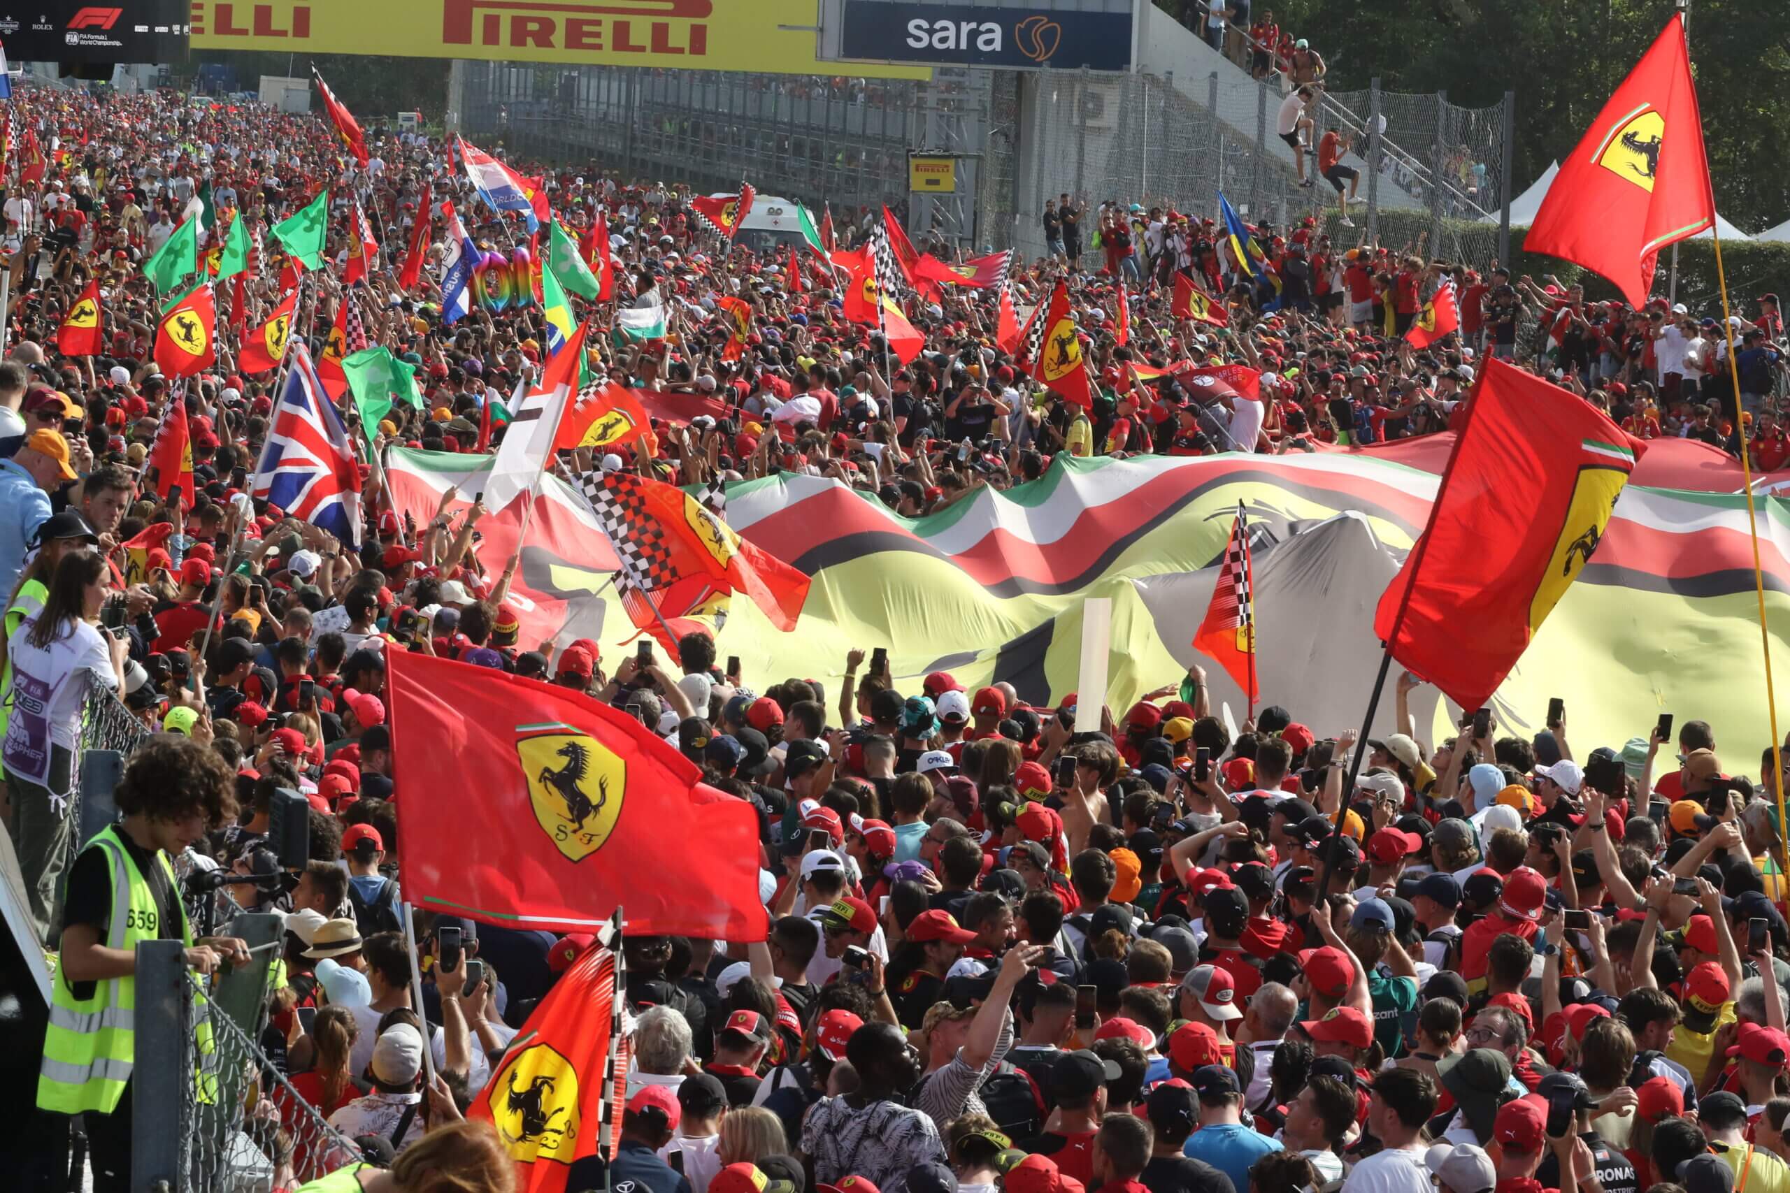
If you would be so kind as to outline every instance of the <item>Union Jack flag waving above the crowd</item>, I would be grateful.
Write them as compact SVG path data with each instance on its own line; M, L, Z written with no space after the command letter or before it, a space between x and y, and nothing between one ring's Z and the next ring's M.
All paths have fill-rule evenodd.
M297 336L252 495L360 547L360 467L342 415Z

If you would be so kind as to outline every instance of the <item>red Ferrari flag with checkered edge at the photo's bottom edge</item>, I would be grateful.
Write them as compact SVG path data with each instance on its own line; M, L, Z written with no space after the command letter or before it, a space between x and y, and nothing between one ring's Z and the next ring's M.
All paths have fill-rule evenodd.
M632 901L623 907L630 928L632 907ZM587 948L535 1005L483 1095L467 1107L467 1118L483 1118L498 1129L503 1148L516 1161L517 1193L562 1193L571 1164L598 1154L609 1050L614 1045L626 1052L626 1041L618 1041L612 1030L614 1012L616 955ZM626 1073L626 1057L616 1055L607 1091L616 1125L628 1089ZM535 1130L541 1121L532 1116L546 1127Z

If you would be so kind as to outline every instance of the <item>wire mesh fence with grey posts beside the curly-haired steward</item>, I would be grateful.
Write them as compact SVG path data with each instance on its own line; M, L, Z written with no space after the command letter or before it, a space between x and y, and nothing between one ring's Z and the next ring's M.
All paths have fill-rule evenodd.
M179 941L138 944L132 1189L274 1193L362 1154L286 1080L286 1037L268 1027L281 918L231 932L251 964L213 980Z

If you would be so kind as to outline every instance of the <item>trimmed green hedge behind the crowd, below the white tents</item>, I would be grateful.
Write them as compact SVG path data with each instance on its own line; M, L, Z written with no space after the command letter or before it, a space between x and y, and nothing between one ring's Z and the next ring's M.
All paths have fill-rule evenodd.
M1357 211L1357 215L1360 213ZM1357 224L1366 225L1366 220L1357 220ZM1351 229L1337 227L1334 218L1328 220L1326 231L1337 245L1348 245L1355 236L1360 236L1359 229L1351 236ZM1434 245L1427 241L1430 216L1423 211L1382 211L1377 231L1382 245L1393 249L1409 245L1414 252L1421 245L1425 258L1437 256ZM1554 274L1564 286L1582 284L1586 297L1593 302L1622 297L1615 286L1586 268L1541 252L1523 252L1523 234L1527 231L1527 227L1511 229L1509 267L1513 277L1529 274L1541 284L1547 274ZM1496 225L1475 220L1443 220L1443 252L1439 256L1452 256L1457 245L1471 249L1487 243L1487 240L1491 249L1484 256L1477 252L1466 254L1477 258L1471 261L1473 265L1484 265L1496 254ZM1695 315L1720 317L1722 295L1715 277L1715 241L1684 240L1679 241L1677 250L1677 300ZM1760 313L1758 297L1761 293L1790 295L1790 243L1729 240L1722 243L1722 265L1727 270L1727 299L1736 315L1745 318L1756 317ZM1666 249L1659 254L1659 272L1654 275L1656 295L1666 293L1670 268L1672 249Z

